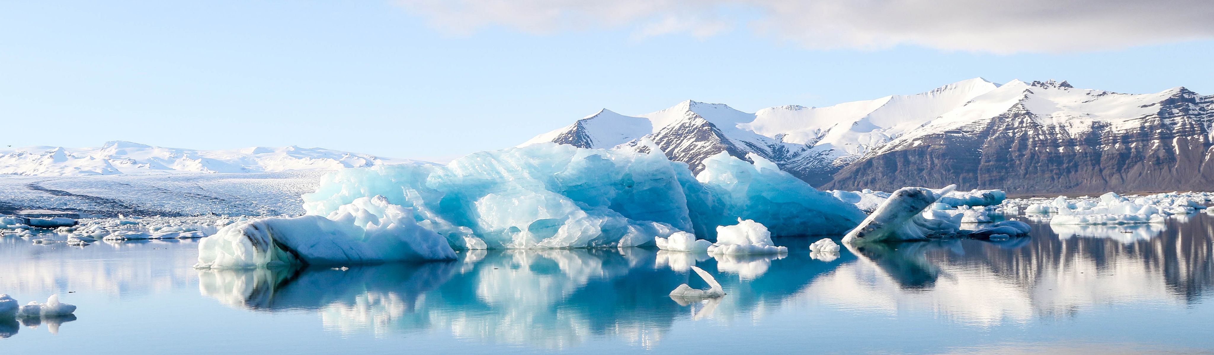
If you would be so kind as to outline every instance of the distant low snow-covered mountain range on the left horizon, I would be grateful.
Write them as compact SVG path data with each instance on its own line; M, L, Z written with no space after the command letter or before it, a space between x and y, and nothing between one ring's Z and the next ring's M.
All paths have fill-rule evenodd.
M0 150L0 174L19 176L280 172L405 162L416 161L294 145L194 150L115 141L96 148Z

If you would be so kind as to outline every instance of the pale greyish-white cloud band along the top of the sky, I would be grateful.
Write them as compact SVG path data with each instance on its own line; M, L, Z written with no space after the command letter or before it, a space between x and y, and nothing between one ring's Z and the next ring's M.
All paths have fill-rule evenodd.
M1214 38L1209 0L397 0L442 30L747 30L810 48L1082 52ZM756 15L758 13L758 15Z

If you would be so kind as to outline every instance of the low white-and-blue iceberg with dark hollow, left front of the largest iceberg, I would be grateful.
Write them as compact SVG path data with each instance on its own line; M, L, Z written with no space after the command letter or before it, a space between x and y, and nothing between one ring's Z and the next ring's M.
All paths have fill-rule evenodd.
M388 204L382 196L354 199L328 217L231 224L202 239L198 250L194 267L211 269L455 258L441 235L418 225L412 208Z

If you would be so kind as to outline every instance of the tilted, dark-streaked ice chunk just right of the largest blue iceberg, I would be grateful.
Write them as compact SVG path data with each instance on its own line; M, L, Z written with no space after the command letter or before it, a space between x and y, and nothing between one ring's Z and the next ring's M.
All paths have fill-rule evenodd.
M958 219L941 211L927 210L954 188L957 185L948 185L940 191L926 188L901 188L894 191L873 214L849 231L843 242L925 240L927 235L955 233L959 228Z

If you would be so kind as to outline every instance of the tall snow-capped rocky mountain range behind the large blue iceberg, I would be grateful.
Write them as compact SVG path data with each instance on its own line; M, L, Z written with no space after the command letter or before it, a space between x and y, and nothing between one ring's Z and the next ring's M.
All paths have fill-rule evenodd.
M918 95L754 114L693 101L636 116L605 109L523 144L648 149L652 141L696 171L720 151L755 153L838 189L1210 189L1214 173L1202 172L1214 161L1212 122L1214 97L1182 87L1127 95L976 78Z

